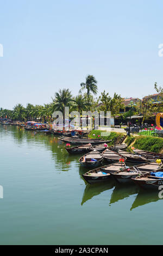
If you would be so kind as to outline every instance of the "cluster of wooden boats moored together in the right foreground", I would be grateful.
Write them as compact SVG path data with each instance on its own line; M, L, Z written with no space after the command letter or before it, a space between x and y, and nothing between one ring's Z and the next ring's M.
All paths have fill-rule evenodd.
M86 153L79 159L83 167L93 167L85 174L83 179L89 184L103 182L114 178L120 183L135 182L145 188L156 188L163 185L163 155L144 150L135 149L133 153L108 147L106 144L91 147L90 144L79 145L78 147L66 148L68 153ZM102 165L102 162L110 164ZM133 166L127 166L134 164Z

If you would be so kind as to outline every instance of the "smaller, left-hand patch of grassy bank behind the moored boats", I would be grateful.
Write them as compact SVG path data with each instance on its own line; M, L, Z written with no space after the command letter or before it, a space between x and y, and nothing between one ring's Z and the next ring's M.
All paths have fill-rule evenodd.
M111 141L109 143L109 145L113 145L115 139L116 139L116 141L119 141L123 136L123 133L121 133L121 132L110 132L109 136L101 136L102 132L104 132L104 131L92 130L89 134L89 138L91 138L91 139L106 139L107 141Z

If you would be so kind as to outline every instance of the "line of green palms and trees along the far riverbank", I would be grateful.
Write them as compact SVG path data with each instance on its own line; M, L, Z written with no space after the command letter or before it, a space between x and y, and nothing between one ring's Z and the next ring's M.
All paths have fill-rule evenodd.
M158 100L163 99L162 88L154 84L154 89L159 93ZM64 115L65 107L70 108L70 112L78 111L110 111L111 116L118 118L119 123L127 123L127 118L130 115L142 114L144 123L149 117L153 117L153 113L163 112L163 107L160 104L154 104L153 100L149 97L145 101L139 100L134 108L124 112L124 97L120 94L114 93L111 97L108 92L101 92L101 95L96 97L98 92L97 80L93 75L87 75L85 82L80 83L79 94L73 96L69 89L60 89L59 92L54 93L52 102L44 105L33 105L27 103L24 107L21 103L17 103L14 108L3 109L0 108L0 118L8 118L18 121L26 120L42 120L52 121L52 114L54 111L61 111ZM121 113L123 112L123 113Z

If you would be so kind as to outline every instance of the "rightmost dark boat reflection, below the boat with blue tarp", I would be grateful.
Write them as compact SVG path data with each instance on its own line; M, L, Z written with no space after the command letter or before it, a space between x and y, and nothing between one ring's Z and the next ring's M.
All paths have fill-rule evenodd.
M140 189L130 210L133 210L133 209L135 209L139 206L145 205L145 204L149 204L149 203L161 200L161 198L159 198L158 194L159 194L159 191Z

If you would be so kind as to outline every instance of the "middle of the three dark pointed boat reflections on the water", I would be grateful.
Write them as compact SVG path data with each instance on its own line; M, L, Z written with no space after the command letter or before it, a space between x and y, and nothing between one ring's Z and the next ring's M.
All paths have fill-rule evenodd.
M124 184L117 183L114 188L114 191L112 191L109 205L116 203L124 198L127 198L132 194L137 194L138 192L139 187L137 187L134 184L127 184L127 186L124 186Z

